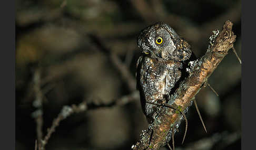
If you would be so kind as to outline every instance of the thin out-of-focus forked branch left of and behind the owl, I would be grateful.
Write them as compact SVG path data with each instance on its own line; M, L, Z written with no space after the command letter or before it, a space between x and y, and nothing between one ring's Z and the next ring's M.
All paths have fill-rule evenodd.
M80 103L78 105L73 104L72 106L64 106L61 113L58 114L58 116L53 120L52 126L50 128L48 128L47 134L45 135L45 137L42 139L42 135L40 136L41 142L39 142L38 146L37 146L39 149L45 148L45 145L48 143L48 140L51 137L52 133L55 132L55 128L60 124L60 122L62 120L64 120L67 116L70 116L73 113L80 113L80 112L84 112L86 110L93 110L93 109L100 109L100 108L111 108L112 106L124 105L133 100L140 99L139 91L135 90L136 81L135 81L134 77L132 76L131 72L129 71L129 69L126 67L126 65L119 59L119 57L115 53L111 52L110 49L107 49L105 47L105 45L103 44L103 42L101 41L101 39L99 37L96 37L96 36L90 36L90 37L96 43L96 45L99 47L99 49L102 50L103 52L105 52L107 54L107 56L110 57L111 62L117 68L117 70L119 70L122 78L124 79L124 81L126 81L128 87L132 93L129 95L125 95L122 98L116 99L107 104L95 104L95 103L87 104L85 101L83 101L82 103ZM46 81L48 81L48 80L46 80Z

